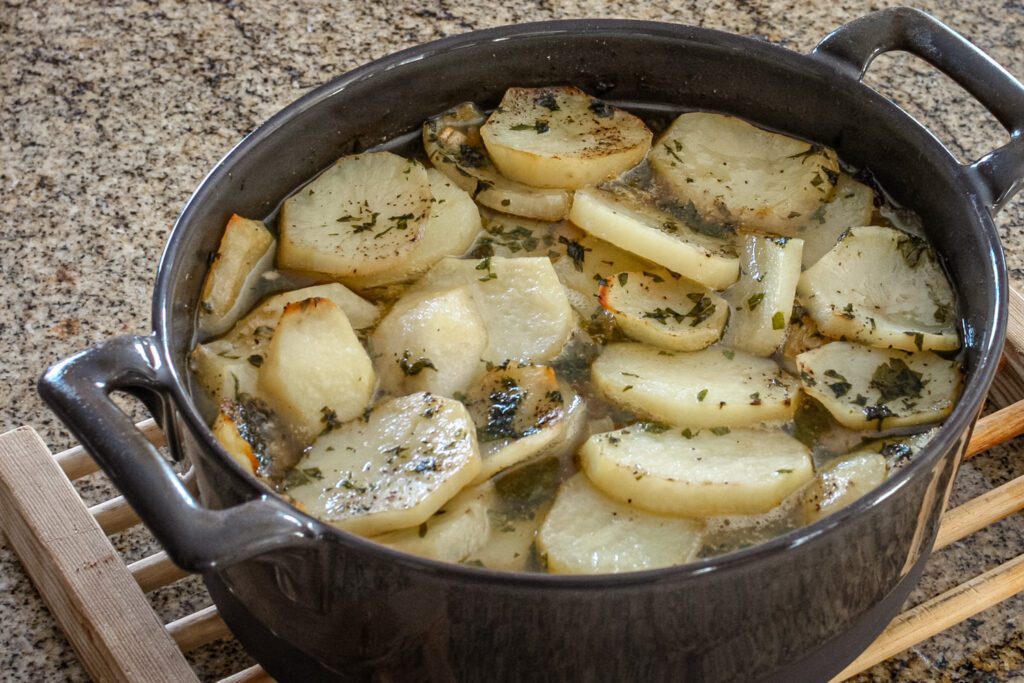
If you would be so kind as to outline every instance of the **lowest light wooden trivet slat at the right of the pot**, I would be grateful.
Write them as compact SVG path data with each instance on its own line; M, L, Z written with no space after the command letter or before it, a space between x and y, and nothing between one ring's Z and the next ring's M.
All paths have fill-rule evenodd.
M1024 555L903 612L835 680L855 676L1024 591Z

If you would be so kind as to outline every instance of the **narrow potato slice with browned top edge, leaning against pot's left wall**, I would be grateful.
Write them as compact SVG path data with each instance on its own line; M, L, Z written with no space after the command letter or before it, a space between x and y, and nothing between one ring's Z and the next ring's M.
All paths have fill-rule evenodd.
M273 236L263 221L231 216L203 282L199 300L203 334L223 334L253 304L259 278L273 265Z

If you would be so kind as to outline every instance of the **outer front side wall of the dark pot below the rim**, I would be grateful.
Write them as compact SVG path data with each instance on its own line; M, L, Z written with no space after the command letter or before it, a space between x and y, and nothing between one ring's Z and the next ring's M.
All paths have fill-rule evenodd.
M453 583L333 539L214 580L245 605L229 624L275 674L303 671L298 651L339 680L824 680L899 609L909 586L890 592L920 568L912 540L931 546L954 463L950 453L870 514L761 561L625 590ZM199 472L204 497L230 501L228 477ZM259 642L261 625L282 642Z

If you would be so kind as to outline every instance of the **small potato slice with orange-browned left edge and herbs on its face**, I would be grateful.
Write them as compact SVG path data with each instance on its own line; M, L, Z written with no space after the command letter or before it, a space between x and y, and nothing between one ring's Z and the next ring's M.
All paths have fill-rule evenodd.
M729 305L714 292L650 272L612 275L601 286L600 301L628 336L676 351L711 346L729 319Z

